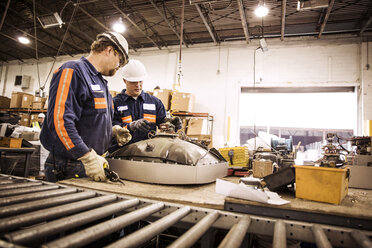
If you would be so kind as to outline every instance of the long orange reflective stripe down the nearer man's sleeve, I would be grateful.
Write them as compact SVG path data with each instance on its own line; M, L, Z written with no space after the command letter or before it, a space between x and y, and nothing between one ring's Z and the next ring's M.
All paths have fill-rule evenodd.
M67 134L65 121L63 119L63 115L65 113L65 104L68 96L68 91L70 89L73 73L74 70L68 68L62 71L61 78L59 79L56 102L54 106L54 127L59 139L67 150L70 150L75 146Z

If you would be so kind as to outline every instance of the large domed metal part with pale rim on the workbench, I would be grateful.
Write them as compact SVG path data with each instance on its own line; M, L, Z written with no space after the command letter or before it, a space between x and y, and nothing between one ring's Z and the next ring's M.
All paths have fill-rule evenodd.
M158 184L202 184L227 176L228 163L212 148L157 134L106 157L120 178Z

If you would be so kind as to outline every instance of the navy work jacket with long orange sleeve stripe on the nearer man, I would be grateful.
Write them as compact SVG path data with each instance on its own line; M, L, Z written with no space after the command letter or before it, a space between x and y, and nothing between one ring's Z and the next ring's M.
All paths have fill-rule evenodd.
M84 57L58 68L50 83L48 111L40 134L55 156L77 159L103 154L112 139L113 104L107 80Z

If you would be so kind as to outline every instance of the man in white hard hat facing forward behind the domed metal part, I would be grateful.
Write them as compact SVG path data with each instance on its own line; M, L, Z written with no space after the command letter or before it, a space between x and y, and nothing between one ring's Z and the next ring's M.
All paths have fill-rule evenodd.
M142 90L143 80L147 76L145 66L138 60L130 60L122 69L126 88L114 97L113 125L127 128L132 139L128 144L148 139L150 131L156 131L156 126L170 121L176 131L182 128L179 117L166 118L166 111L159 98ZM119 148L115 142L110 152Z

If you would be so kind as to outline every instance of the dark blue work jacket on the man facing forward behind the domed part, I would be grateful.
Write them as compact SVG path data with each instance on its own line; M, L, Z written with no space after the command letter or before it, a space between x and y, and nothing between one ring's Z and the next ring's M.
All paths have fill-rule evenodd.
M114 97L114 119L112 124L128 128L132 139L127 145L149 138L149 133L143 133L141 131L133 132L128 126L129 123L139 119L148 120L151 123L151 130L149 132L155 132L156 126L163 123L165 117L165 108L160 99L144 91L138 96L137 100L128 96L125 93L125 89ZM117 148L119 147L116 141L113 140L110 152Z

